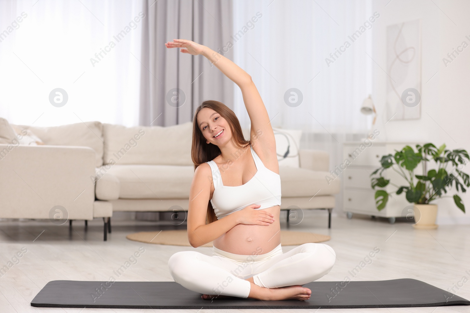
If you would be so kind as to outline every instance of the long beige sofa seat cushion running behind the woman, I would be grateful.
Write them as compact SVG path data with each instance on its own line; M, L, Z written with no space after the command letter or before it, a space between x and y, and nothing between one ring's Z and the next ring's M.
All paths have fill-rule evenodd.
M103 165L105 166L105 165ZM282 197L322 196L339 193L340 180L328 182L328 172L279 166ZM106 179L115 177L119 180ZM194 176L190 165L137 165L114 164L96 181L96 197L113 200L118 192L120 199L187 199ZM208 178L210 179L210 178ZM98 190L107 190L106 193ZM317 193L318 192L318 193Z

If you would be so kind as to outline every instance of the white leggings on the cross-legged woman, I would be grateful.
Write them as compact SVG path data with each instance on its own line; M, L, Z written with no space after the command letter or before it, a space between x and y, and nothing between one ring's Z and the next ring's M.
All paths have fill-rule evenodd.
M175 282L188 290L208 295L247 298L253 277L256 285L278 288L304 285L328 274L336 253L324 243L304 243L282 252L281 244L272 251L251 255L233 254L213 247L212 256L197 251L180 251L168 260Z

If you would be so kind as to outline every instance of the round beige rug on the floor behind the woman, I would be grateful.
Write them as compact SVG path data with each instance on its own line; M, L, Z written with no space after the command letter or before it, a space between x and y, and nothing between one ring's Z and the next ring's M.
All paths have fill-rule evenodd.
M141 243L191 246L188 241L188 231L186 229L139 232L127 235L126 238L133 241L139 241ZM282 246L298 246L304 243L322 243L330 239L331 237L328 235L315 234L312 232L281 230ZM212 247L212 242L204 244L202 247Z

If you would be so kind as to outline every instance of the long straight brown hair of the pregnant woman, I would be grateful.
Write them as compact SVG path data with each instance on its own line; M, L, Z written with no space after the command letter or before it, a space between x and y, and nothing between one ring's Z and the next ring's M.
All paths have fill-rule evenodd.
M213 160L222 153L218 146L212 143L206 143L206 139L204 138L204 135L199 128L196 117L197 113L199 113L199 111L204 108L209 108L216 111L220 114L221 117L227 120L232 132L232 138L238 147L244 148L248 144L251 144L251 141L245 140L243 138L242 127L240 126L240 122L238 121L234 111L230 110L230 108L228 108L222 102L215 100L204 101L200 106L197 107L193 118L193 142L191 146L191 159L193 160L195 171L199 165ZM216 220L217 217L215 215L214 209L212 208L212 204L209 201L207 204L206 224L210 224Z

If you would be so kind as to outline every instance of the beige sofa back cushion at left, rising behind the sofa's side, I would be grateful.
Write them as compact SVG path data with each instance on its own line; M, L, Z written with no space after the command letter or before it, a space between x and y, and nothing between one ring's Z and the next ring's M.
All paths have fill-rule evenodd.
M85 146L96 154L96 167L103 164L103 139L101 122L84 122L61 126L37 127L12 125L16 129L31 130L46 145Z

